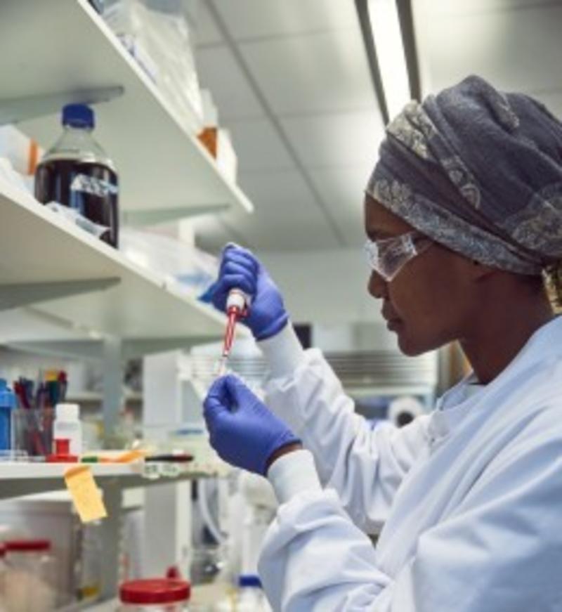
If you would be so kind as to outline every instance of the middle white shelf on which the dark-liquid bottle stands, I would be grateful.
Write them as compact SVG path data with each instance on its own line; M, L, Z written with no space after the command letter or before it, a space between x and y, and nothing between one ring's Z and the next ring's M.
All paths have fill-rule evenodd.
M170 286L164 278L138 268L119 251L37 204L20 190L0 186L0 291L4 285L114 279L107 289L41 301L35 309L61 325L42 340L96 338L95 332L127 339L219 339L225 318L206 304ZM9 313L9 311L8 311ZM240 330L244 334L243 330ZM37 334L37 330L33 330ZM4 337L38 339L25 327Z

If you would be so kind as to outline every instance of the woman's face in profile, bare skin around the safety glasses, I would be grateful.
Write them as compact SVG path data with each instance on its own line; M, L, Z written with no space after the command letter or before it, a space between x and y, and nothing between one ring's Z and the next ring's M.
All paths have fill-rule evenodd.
M413 229L372 197L365 197L365 232L370 240ZM396 332L403 353L419 355L466 337L477 307L472 266L466 257L433 242L389 282L372 271L369 292L382 300L381 314L388 329Z

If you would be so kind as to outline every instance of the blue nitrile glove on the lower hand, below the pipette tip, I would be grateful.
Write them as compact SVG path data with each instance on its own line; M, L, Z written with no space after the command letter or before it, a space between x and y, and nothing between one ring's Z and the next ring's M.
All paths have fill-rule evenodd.
M300 442L235 375L216 379L203 408L211 446L236 467L265 476L276 450Z

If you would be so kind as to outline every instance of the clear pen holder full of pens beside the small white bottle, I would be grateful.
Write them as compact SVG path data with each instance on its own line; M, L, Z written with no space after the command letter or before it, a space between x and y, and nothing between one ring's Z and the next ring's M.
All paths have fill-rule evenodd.
M53 448L54 408L16 408L12 410L14 450L29 457L46 457Z

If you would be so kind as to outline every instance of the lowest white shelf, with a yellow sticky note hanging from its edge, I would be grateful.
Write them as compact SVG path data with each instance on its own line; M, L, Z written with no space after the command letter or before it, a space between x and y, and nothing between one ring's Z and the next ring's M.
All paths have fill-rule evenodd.
M64 474L67 469L78 465L88 465L91 468L96 483L103 487L104 483L117 483L121 488L145 487L166 484L181 480L223 476L225 464L216 462L214 465L177 464L180 473L176 476L159 476L146 478L143 476L144 462L127 464L81 464L81 463L24 463L0 462L0 499L45 493L65 489ZM150 467L170 469L171 464L154 464Z

